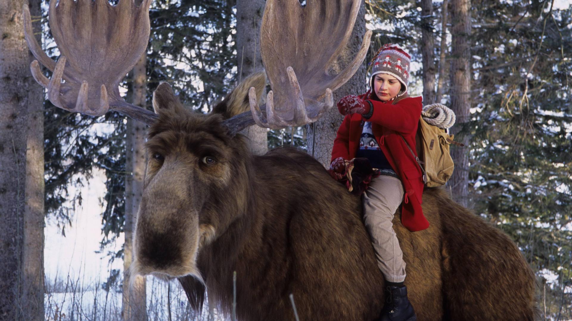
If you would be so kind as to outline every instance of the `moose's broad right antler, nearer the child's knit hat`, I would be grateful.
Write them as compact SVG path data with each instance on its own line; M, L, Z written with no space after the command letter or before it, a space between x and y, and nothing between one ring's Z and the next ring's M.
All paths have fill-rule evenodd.
M270 81L266 116L249 100L257 125L277 129L315 122L333 106L332 91L358 70L370 47L371 31L351 63L331 74L347 45L361 1L268 0L260 27L260 54ZM324 102L321 102L324 99ZM275 107L276 106L276 107Z

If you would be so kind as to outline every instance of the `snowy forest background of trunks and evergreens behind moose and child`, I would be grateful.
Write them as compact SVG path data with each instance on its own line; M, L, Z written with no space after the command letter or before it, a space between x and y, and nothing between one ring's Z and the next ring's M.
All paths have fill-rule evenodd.
M19 18L29 3L38 41L57 58L49 2L0 2L0 292L9 294L0 296L0 319L220 318L212 308L190 311L175 283L147 278L146 291L126 294L122 263L130 262L144 128L113 112L94 118L51 105L30 77ZM263 67L256 44L263 11L260 0L154 0L146 57L125 78L126 99L150 109L153 90L168 81L186 106L208 113ZM538 276L546 319L572 320L570 2L366 0L356 25L354 42L364 28L374 31L367 62L383 43L398 43L415 61L412 94L456 111L452 131L466 147L452 147L456 176L446 187L518 244ZM337 98L366 90L366 68ZM339 122L332 113L304 127L244 134L256 143L254 153L292 144L326 164ZM101 190L90 211L101 215L93 242L110 262L104 280L67 271L46 278L44 260L54 258L43 257L44 230L65 236L86 206L88 181L101 174L104 185L89 192ZM133 311L122 311L121 301Z

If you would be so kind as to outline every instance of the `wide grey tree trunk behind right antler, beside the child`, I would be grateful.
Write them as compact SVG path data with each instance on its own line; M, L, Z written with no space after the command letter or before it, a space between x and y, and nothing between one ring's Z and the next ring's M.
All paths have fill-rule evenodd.
M347 48L341 53L339 59L339 70L351 62L355 54L362 45L363 35L366 33L366 9L364 3L360 7L358 17L353 26L352 35L349 38ZM308 154L316 158L324 167L329 168L329 160L332 156L333 140L336 139L337 129L341 125L344 117L339 114L336 103L345 95L360 95L367 90L366 63L356 71L345 85L341 86L333 93L334 106L328 113L325 113L317 122L306 125Z

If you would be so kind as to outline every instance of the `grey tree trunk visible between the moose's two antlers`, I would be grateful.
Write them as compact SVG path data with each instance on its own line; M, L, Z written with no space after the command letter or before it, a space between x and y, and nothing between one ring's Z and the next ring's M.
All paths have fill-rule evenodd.
M263 71L260 57L260 23L264 14L265 0L236 1L236 51L239 80L252 73ZM263 99L266 93L264 92ZM253 125L241 131L251 142L251 151L263 155L268 151L268 131Z

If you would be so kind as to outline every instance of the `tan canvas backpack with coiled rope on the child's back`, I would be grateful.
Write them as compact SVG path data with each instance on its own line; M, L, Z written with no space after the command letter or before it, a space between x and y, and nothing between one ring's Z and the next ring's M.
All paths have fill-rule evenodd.
M395 99L394 104L399 100ZM449 147L451 144L464 146L453 141L454 135L447 133L446 129L454 123L455 114L446 106L432 104L423 107L415 137L418 157L415 157L415 153L402 136L407 148L423 172L423 182L427 187L442 186L453 174L455 165Z

